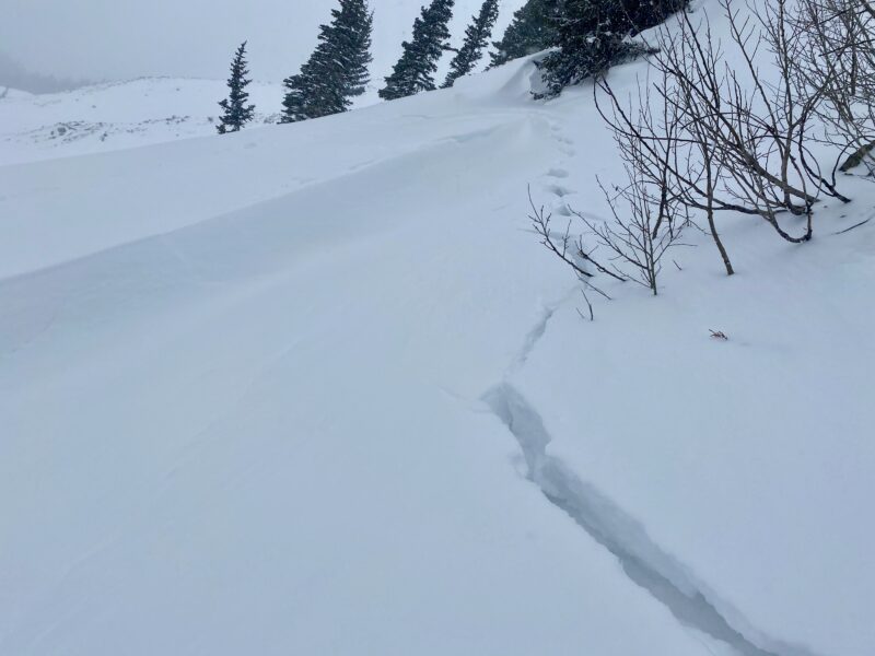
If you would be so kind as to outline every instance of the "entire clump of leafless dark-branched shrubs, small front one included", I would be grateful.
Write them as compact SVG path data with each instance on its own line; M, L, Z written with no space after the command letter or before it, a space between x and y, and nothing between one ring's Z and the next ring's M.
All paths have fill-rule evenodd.
M596 106L627 181L598 181L608 222L574 212L594 248L571 237L571 224L561 236L551 233L549 216L536 212L545 246L587 282L592 265L656 294L660 262L682 243L681 229L696 225L691 215L707 219L730 276L734 268L716 229L721 213L759 216L788 242L809 241L814 207L827 197L850 200L837 185L841 153L849 144L867 147L870 159L875 153L875 9L868 0L801 1L810 5L791 13L789 0L751 0L744 5L749 11L738 0L719 0L728 24L725 46L713 37L707 12L679 12L675 24L656 31L648 75L628 98L598 78ZM835 66L824 63L830 52L839 54ZM839 153L826 172L815 154L825 143ZM801 229L786 225L800 223L794 216ZM598 248L607 259L594 259Z

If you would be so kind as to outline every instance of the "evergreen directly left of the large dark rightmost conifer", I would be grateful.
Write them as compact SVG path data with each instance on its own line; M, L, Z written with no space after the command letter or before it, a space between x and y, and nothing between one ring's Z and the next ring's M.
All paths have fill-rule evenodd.
M514 14L501 40L492 42L489 68L551 48L559 42L562 0L528 0Z

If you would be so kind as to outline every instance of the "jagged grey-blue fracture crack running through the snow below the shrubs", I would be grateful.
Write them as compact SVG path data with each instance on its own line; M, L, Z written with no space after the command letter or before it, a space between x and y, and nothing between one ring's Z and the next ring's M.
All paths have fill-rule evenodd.
M532 335L539 337L544 333L551 314L548 313L529 333L526 343L537 340L532 340ZM500 383L489 389L482 400L520 443L528 479L550 503L564 511L578 526L610 551L626 575L665 605L681 624L728 644L742 656L814 656L803 647L772 641L750 631L758 634L754 640L767 645L763 648L734 628L709 600L709 597L713 599L713 594L704 591L684 565L660 549L638 520L581 480L562 460L547 453L550 435L544 421L513 385Z

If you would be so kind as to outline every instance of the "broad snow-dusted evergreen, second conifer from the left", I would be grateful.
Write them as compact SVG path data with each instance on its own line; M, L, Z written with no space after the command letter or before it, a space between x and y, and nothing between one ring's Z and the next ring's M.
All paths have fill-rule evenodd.
M301 72L283 80L282 122L346 112L364 93L371 63L373 13L366 0L340 0L331 23L319 26L318 44Z

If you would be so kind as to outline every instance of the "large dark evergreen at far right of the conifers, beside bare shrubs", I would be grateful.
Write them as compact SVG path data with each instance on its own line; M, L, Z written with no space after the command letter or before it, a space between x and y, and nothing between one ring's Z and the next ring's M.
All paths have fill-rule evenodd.
M559 21L559 50L539 63L546 91L559 95L565 86L604 73L609 67L648 54L628 37L663 22L686 0L565 0Z

